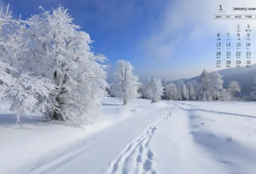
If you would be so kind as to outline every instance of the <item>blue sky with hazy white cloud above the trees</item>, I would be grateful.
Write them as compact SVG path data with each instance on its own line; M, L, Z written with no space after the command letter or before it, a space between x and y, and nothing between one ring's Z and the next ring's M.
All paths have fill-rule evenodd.
M39 6L51 10L61 4L68 8L74 23L95 41L93 52L104 54L109 59L110 80L116 61L125 59L145 82L152 75L172 81L199 75L204 68L216 70L216 35L218 32L234 32L235 35L237 21L214 21L214 13L218 12L220 4L231 10L233 6L255 7L252 2L0 0L0 5L10 3L13 16L21 14L22 19L26 19L40 13ZM246 22L240 23L246 26Z

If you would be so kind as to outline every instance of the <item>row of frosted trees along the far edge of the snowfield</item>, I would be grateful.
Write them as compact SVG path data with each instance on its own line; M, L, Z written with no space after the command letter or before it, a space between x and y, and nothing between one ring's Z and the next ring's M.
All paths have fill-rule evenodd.
M203 70L200 81L178 81L177 84L166 84L154 77L148 79L147 84L138 81L138 77L132 74L132 66L129 62L118 61L116 65L115 81L111 84L110 93L114 97L124 99L142 98L152 102L158 100L237 100L237 93L241 87L236 81L230 81L228 88L223 88L222 75L218 72ZM125 68L126 67L126 68ZM131 90L132 89L132 90Z

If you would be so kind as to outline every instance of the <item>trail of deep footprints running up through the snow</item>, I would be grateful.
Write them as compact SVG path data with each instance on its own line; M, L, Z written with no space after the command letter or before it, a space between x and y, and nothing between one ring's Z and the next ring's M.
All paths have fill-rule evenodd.
M148 148L148 144L157 130L157 125L164 122L172 114L170 111L163 118L148 126L143 133L129 143L124 150L110 162L108 174L157 174L154 171L154 152ZM125 136L125 135L124 135Z

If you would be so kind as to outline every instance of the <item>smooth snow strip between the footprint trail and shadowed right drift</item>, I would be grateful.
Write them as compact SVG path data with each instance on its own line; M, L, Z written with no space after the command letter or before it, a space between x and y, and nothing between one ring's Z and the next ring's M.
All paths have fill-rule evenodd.
M176 109L157 129L150 145L152 152L156 154L154 161L158 164L154 170L157 173L177 174L227 173L227 170L222 170L217 164L218 162L201 154L202 149L196 145L189 126L188 113ZM161 136L163 134L166 136Z

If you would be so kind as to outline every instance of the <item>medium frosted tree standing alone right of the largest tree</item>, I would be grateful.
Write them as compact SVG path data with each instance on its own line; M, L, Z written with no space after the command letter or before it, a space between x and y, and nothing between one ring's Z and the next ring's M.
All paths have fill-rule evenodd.
M130 99L139 97L139 79L133 74L133 67L129 61L118 60L111 93L124 100L124 105Z

